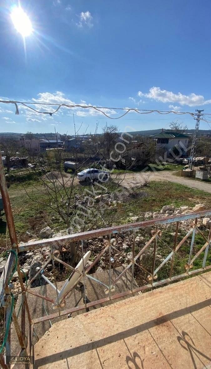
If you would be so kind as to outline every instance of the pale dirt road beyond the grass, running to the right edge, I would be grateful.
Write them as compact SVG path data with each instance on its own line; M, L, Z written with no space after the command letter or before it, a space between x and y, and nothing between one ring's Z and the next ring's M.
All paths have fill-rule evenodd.
M150 174L149 172L126 173L120 175L122 179L121 185L126 188L139 186L139 184L142 184L149 176L150 181L170 181L211 193L211 183L174 176L173 173L174 172L167 172L166 170L163 170L163 172L151 172Z

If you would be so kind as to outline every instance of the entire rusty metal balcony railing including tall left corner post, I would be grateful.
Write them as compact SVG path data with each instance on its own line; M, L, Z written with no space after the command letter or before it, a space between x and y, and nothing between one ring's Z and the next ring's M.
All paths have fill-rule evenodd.
M0 158L1 159L1 158ZM68 315L71 314L73 312L77 312L79 310L83 310L83 309L87 309L93 306L96 306L98 304L102 304L105 303L107 301L112 301L115 299L118 299L120 297L125 297L128 296L130 294L135 294L141 291L145 291L145 290L149 290L158 286L161 286L163 284L167 284L170 282L174 282L176 280L182 279L184 277L188 277L188 276L192 276L194 274L197 273L201 273L204 271L207 271L209 269L211 269L211 265L208 264L207 265L207 256L208 256L208 251L209 251L209 247L211 246L211 228L210 231L208 232L208 235L204 235L203 232L200 230L199 226L198 226L198 219L201 217L207 217L211 215L211 210L206 210L206 211L199 211L197 213L191 213L191 214L186 214L186 215L179 215L176 217L167 217L167 218L160 218L160 219L153 219L153 220L146 220L146 221L142 221L142 222L137 222L137 223L132 223L132 224L124 224L124 225L118 225L118 226L114 226L114 227L110 227L110 228L104 228L104 229L100 229L100 230L93 230L93 231L87 231L87 232L80 232L80 233L76 233L76 234L72 234L72 235L65 235L62 237L55 237L55 238L50 238L50 239L42 239L39 241L34 241L34 242L27 242L21 245L18 245L17 242L17 236L15 234L15 227L14 227L14 221L13 221L13 216L12 216L12 212L11 212L11 206L10 206L10 199L8 197L8 192L7 192L7 186L6 186L6 181L5 181L5 177L2 175L3 173L3 167L1 166L1 160L0 160L0 190L1 190L1 194L3 197L3 201L4 201L4 209L5 209L5 213L6 213L6 218L7 218L7 224L8 224L8 229L10 232L10 239L11 239L11 253L8 257L6 266L4 268L4 271L1 275L0 278L0 305L3 305L6 311L6 324L7 322L10 320L11 315L12 315L12 319L13 319L13 323L14 323L14 327L15 327L15 331L17 332L17 337L18 337L18 341L20 344L20 352L21 353L25 353L26 355L30 355L32 352L32 336L34 334L34 325L37 323L41 323L44 322L46 320L52 320L54 318L58 318L58 317L62 317L64 315ZM188 220L193 220L193 222L191 222L189 225L189 230L186 232L186 235L180 240L178 241L178 231L179 231L179 225L180 222L183 221L188 221ZM156 259L156 255L157 255L157 248L158 248L158 242L160 242L160 240L162 241L162 230L160 228L162 228L163 225L170 225L170 224L175 224L176 225L176 229L175 229L175 235L174 235L174 241L173 241L173 246L172 248L170 247L170 245L166 245L166 247L168 248L169 252L167 255L164 255L164 259L162 260L162 262L158 263L158 260ZM138 249L135 247L136 246L136 232L141 230L146 230L146 229L151 229L151 236L150 238L145 242L145 244L143 246L139 246ZM121 250L118 249L118 245L115 241L114 236L117 236L118 234L122 234L124 232L131 232L132 233L132 255L131 257L126 256L125 253ZM149 234L149 232L148 232ZM195 237L196 234L200 234L201 238L204 239L204 244L201 246L200 250L197 251L197 253L195 255L194 254L194 241L195 241ZM84 257L84 240L89 239L89 238L97 238L99 236L107 236L107 239L104 239L104 244L103 244L103 249L101 250L101 252L96 256L96 258L94 259L94 261L86 268L86 266L83 265L83 270L82 272L79 272L79 270L76 270L72 265L69 265L67 263L65 263L64 261L59 259L59 251L53 251L53 247L55 248L56 245L59 245L61 243L65 243L65 242L75 242L75 241L79 241L81 242L81 254L82 254L82 259ZM175 262L175 257L176 255L178 255L178 252L181 248L181 246L183 246L186 241L191 237L191 242L190 242L190 247L189 247L189 255L188 258L186 260L186 263L184 264L184 273L180 273L177 275L173 275L173 271L174 271L174 262ZM69 309L63 309L62 304L60 304L59 306L59 311L56 313L52 313L43 317L39 317L39 318L35 318L35 319L31 319L31 315L30 315L30 309L28 307L28 302L27 302L27 297L26 297L26 292L35 295L37 297L40 297L41 299L47 300L47 301L51 301L52 303L55 302L55 300L47 297L47 296L42 296L38 293L36 293L34 291L33 288L30 288L31 283L33 282L34 279L36 279L36 277L41 273L41 270L38 270L37 274L34 276L33 279L31 279L28 283L28 285L26 286L23 283L22 277L21 277L21 272L20 272L20 265L18 262L18 258L17 258L17 254L19 252L25 252L25 251L29 251L29 250L36 250L36 249L42 249L46 246L49 246L51 249L51 252L49 253L49 255L47 256L47 260L45 262L45 264L42 266L42 270L48 266L48 264L52 261L53 265L54 262L60 263L62 265L64 265L66 268L69 268L70 271L74 271L76 273L78 273L78 279L75 282L75 284L71 287L71 289L66 293L69 294L77 285L78 282L80 282L80 280L82 280L83 285L84 285L84 289L85 289L85 295L86 295L86 286L85 286L85 277L89 280L92 280L96 283L101 284L101 286L104 287L104 293L105 293L105 297L103 297L100 300L95 300L95 301L91 301L91 302L87 302L86 299L84 300L84 304L80 305L80 306L75 306ZM149 249L151 248L151 251L149 251ZM128 261L128 265L125 265L122 272L113 280L111 281L111 269L112 269L112 265L111 265L111 255L112 253L115 252L116 254L119 254L120 256L123 256L124 258L127 259ZM141 257L143 255L146 254L146 252L148 252L151 255L151 265L143 265L143 263L141 262ZM194 269L194 262L199 258L199 256L204 252L204 257L203 260L201 261L201 266L200 268ZM109 263L108 263L108 274L109 274L109 281L108 284L100 281L99 279L97 279L96 277L93 277L92 275L89 274L90 270L97 265L97 263L99 262L100 258L103 257L104 255L108 256L109 259ZM180 256L182 257L182 256ZM160 271L162 271L162 268L167 265L167 263L169 265L169 275L166 276L166 278L160 279L159 280L159 273ZM84 262L83 262L84 264ZM22 301L21 301L21 326L18 323L18 319L17 319L17 315L15 313L15 310L12 309L11 311L11 301L12 301L12 292L10 289L10 276L11 273L13 271L14 266L17 266L17 272L18 272L18 277L20 280L20 285L21 285L21 294L22 294ZM137 287L137 285L134 287L134 280L135 280L135 268L138 270L140 270L140 272L145 273L145 281L146 283L140 285ZM115 293L115 287L117 286L118 281L120 281L120 279L125 275L125 273L127 273L128 270L131 270L131 283L130 286L128 288L127 291L121 292L121 293ZM136 272L136 276L137 276L137 272ZM55 284L56 284L56 279L55 279ZM57 299L58 299L58 288L56 285L56 295L57 295ZM25 339L25 311L27 313L27 319L29 322L29 332L28 332L28 340ZM6 340L6 345L5 345L5 352L6 355L10 355L10 330L8 332L8 337ZM4 363L4 357L3 354L0 354L0 363L1 366L3 368L8 368L8 365L6 365Z

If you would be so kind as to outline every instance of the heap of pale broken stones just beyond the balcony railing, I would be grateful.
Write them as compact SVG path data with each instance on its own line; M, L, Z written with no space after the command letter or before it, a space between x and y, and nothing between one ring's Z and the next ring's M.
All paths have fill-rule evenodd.
M205 210L204 204L198 204L194 207L188 207L188 206L174 207L173 205L166 205L166 206L163 206L159 212L146 212L140 216L130 213L129 218L127 220L130 223L134 223L137 221L142 221L143 219L144 220L158 219L158 218L169 217L169 216L176 217L178 215L186 215L190 213L194 214L198 211L203 211L203 210ZM190 224L192 222L193 222L193 219L181 221L180 229L184 231L189 230ZM198 219L197 225L199 228L210 228L211 216ZM172 224L165 224L165 225L162 225L162 227L168 229L168 227L172 227ZM63 230L63 231L56 233L55 230L52 230L50 227L45 227L40 231L39 238L60 237L67 233L68 233L67 230ZM139 230L139 232L137 231L136 238L135 238L136 251L137 251L137 248L141 249L150 237L151 236L150 236L149 228L146 228L146 230ZM35 240L36 239L30 239L30 241L35 241ZM87 250L91 250L93 259L95 259L97 255L103 250L106 242L108 242L108 236L100 236L98 238L84 240L83 242L84 251L86 252ZM112 254L111 254L111 263L113 264L112 268L116 268L117 266L121 266L121 265L127 266L127 264L130 262L130 259L132 259L132 251L131 251L132 244L133 244L132 235L129 234L129 232L126 232L126 233L122 232L121 234L113 235L113 238L111 239L111 244L114 245L115 248L118 249L122 254L120 255L114 249L112 250ZM65 246L65 247L68 247L68 246ZM61 246L60 248L56 246L56 249L59 249L59 251L63 251L61 249ZM31 280L35 276L35 274L37 273L36 269L42 268L42 266L46 262L46 255L48 254L49 251L50 251L50 248L45 247L39 250L27 251L19 255L20 266L23 269L23 272L21 272L23 279L25 275L27 276L29 280ZM146 263L145 259L147 257L150 257L152 253L153 253L153 245L152 247L148 247L146 249L146 252L143 254L143 256L141 256L141 258L143 258L142 262ZM158 248L156 258L159 259L160 262L164 260L161 254L162 254L162 249L159 250ZM81 255L82 255L82 249L80 246L78 255L77 255L77 260L80 260ZM61 252L60 254L60 258L62 257L65 258L63 252ZM5 264L6 264L6 259L0 258L0 273L3 272ZM88 265L90 264L91 264L91 261L88 262ZM52 263L49 263L45 269L45 274L47 274L50 280L54 281L52 269L53 269L53 265ZM100 260L97 262L97 265L94 268L94 271L100 272L104 269L108 269L108 258L105 255L103 255L100 258ZM15 283L15 281L17 280L18 280L18 274L17 272L15 272L13 275L12 281ZM20 288L20 285L18 283L19 282L17 282L16 289ZM37 279L34 280L34 282L32 282L31 286L36 287L39 285L40 285L40 280L37 277Z

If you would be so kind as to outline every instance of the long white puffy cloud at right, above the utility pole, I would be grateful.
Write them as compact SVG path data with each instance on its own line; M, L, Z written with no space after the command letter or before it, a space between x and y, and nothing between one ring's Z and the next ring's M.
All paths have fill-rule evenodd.
M191 93L190 95L183 95L180 92L173 93L167 90L161 90L160 87L151 87L148 93L138 92L139 97L147 97L155 101L162 103L179 103L180 105L188 106L200 106L211 104L211 100L205 100L203 95L196 95Z

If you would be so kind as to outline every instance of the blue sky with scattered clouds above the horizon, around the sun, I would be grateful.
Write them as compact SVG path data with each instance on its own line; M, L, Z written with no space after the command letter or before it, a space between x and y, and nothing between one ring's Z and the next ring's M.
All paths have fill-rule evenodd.
M15 4L0 5L1 99L211 113L210 1L21 0L33 27L25 52L10 18ZM71 109L53 117L19 110L0 104L1 132L74 131ZM121 131L167 128L176 119L195 125L188 115L74 114L80 133L94 132L97 121L99 132L106 122ZM210 129L205 121L200 128Z

